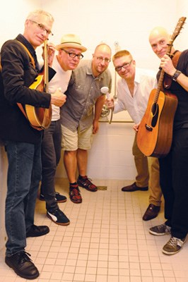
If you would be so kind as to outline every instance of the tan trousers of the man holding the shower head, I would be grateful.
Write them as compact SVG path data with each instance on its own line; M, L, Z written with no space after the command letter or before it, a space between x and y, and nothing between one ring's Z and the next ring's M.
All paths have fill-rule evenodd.
M140 151L137 146L136 136L132 147L132 153L134 155L134 162L136 166L137 176L136 185L139 187L149 186L149 202L160 206L162 191L160 189L159 179L159 162L157 158L146 157Z

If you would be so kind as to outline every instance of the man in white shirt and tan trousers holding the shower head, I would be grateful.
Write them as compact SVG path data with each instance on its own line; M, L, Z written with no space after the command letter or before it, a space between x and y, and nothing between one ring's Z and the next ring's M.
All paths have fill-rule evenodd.
M156 87L157 80L153 71L136 68L136 62L127 50L118 51L112 61L115 71L120 76L117 82L117 101L108 100L109 108L114 108L114 114L119 111L128 111L134 121L134 130L137 131L143 114L146 111L151 90ZM160 211L161 196L159 183L158 159L145 157L139 150L136 135L132 147L137 170L136 181L122 188L124 192L148 190L150 187L149 205L143 215L143 220L148 221L158 216ZM149 166L148 166L149 164Z

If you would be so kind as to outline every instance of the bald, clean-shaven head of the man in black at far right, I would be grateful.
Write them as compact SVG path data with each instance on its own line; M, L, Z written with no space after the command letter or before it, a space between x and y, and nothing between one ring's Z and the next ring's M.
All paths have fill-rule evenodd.
M149 42L153 52L159 58L162 58L166 54L169 41L170 35L164 27L154 27L153 30L151 30Z

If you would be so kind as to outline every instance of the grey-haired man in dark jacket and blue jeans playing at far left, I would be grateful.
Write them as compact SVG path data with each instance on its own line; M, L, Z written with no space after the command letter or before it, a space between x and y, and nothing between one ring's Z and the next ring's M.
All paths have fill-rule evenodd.
M0 136L8 156L5 262L25 279L39 276L37 267L25 252L26 238L49 233L48 226L34 225L41 179L43 121L41 126L33 125L25 109L28 105L36 108L36 113L40 109L46 113L51 104L61 106L64 101L64 94L59 90L49 94L44 87L40 90L33 87L39 77L35 49L52 34L53 22L51 14L33 11L25 20L23 35L8 40L1 48ZM53 54L53 50L49 50L48 63L52 62ZM49 70L51 78L54 73Z

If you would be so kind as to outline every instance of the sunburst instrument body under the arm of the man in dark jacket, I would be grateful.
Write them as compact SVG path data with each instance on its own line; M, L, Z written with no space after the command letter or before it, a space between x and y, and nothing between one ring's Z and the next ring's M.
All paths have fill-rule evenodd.
M38 75L30 89L37 89L43 91L42 85L43 75ZM49 109L35 108L35 106L25 105L25 112L30 121L30 124L34 127L45 129L48 128L52 119L52 106Z

